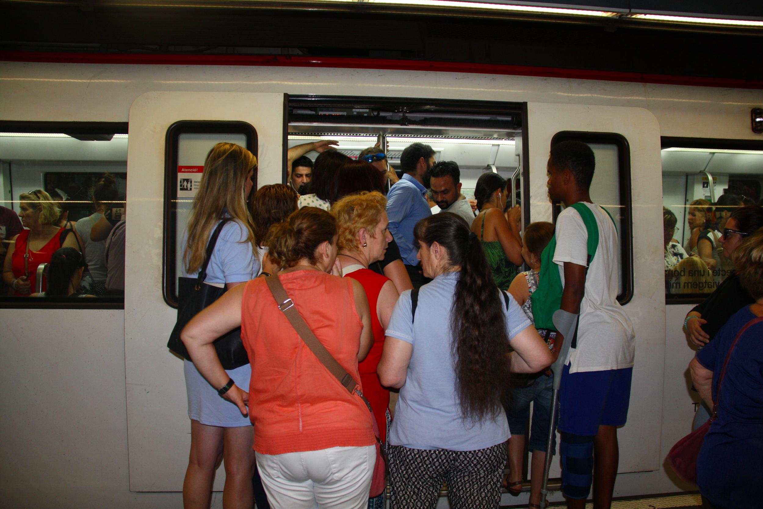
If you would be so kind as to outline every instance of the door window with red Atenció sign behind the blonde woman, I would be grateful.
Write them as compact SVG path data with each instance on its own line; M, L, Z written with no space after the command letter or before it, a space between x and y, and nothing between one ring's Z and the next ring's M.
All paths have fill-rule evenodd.
M163 296L178 305L178 278L183 275L182 235L201 182L204 159L216 143L236 143L257 155L252 125L234 121L179 121L167 130L164 182ZM256 173L253 189L257 188Z

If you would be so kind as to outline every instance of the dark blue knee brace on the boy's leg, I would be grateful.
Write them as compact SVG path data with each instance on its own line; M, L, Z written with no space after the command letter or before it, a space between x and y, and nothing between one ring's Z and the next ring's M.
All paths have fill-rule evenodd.
M594 472L594 437L561 433L562 493L568 498L588 498Z

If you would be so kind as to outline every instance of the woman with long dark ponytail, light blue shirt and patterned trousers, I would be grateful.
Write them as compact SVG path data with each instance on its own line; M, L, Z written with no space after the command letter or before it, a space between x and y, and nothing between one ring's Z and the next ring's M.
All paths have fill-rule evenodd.
M495 285L461 217L426 217L414 237L433 281L401 295L378 365L381 384L401 388L388 438L392 507L430 507L443 481L454 509L498 507L510 436L504 388L510 372L538 372L551 353Z

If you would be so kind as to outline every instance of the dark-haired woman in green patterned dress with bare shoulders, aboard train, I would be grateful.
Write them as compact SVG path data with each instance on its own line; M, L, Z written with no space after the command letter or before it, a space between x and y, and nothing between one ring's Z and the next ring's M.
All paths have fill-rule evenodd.
M483 173L477 179L475 198L480 213L472 221L472 231L481 240L495 284L507 290L522 265L519 205L504 215L507 203L506 180L497 173Z

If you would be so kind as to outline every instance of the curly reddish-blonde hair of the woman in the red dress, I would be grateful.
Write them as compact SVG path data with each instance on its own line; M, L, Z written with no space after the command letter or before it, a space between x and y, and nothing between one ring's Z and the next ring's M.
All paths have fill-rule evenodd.
M376 225L381 221L386 206L387 198L378 191L347 195L336 201L331 206L331 214L336 217L339 227L336 240L339 250L359 250L358 232L363 228L375 238Z

